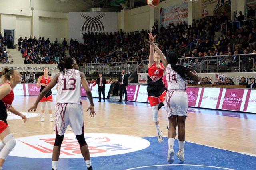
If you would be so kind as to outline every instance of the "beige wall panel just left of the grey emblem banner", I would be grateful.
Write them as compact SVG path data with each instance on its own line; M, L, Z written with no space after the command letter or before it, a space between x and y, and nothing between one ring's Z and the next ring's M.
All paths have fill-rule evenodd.
M68 39L68 20L39 17L39 36L50 38L50 42L54 42L55 38L58 38L59 42L62 42L63 38Z

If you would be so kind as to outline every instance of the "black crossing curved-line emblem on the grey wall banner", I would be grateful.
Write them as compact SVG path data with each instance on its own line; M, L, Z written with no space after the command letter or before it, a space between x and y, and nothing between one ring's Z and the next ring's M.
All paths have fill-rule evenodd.
M104 25L100 21L105 14L98 15L96 17L90 17L85 14L81 14L82 17L86 19L82 27L82 31L104 31Z

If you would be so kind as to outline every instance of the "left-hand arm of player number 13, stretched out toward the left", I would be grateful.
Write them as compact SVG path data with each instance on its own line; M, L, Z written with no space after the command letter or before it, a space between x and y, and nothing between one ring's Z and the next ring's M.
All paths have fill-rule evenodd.
M40 100L57 84L59 75L60 75L60 73L56 74L56 76L54 76L54 78L46 86L46 88L44 88L44 90L42 90L42 92L39 94L38 98L36 99L36 102L34 103L34 105L28 109L28 112L30 112L30 110L31 110L31 112L33 113L33 109L34 109L34 112L36 111L37 105L40 102Z

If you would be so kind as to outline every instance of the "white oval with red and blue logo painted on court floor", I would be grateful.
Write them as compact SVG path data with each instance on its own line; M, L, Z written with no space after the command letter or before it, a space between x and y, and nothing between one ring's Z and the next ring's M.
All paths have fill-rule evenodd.
M109 133L85 133L91 157L136 152L149 147L150 142L140 137ZM55 134L20 137L10 156L52 158ZM26 154L24 154L26 153ZM61 145L60 158L82 158L80 145L74 133L66 133Z

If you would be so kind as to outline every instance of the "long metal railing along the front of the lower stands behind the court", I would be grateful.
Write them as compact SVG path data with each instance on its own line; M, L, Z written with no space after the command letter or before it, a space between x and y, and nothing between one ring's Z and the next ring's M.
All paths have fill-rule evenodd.
M236 62L234 62L234 57ZM197 59L197 60L196 60ZM192 67L197 72L256 72L256 54L218 55L206 57L179 58L178 64ZM148 60L118 63L78 64L79 70L86 74L117 74L126 70L130 74L146 73Z

